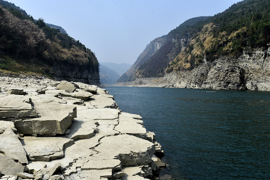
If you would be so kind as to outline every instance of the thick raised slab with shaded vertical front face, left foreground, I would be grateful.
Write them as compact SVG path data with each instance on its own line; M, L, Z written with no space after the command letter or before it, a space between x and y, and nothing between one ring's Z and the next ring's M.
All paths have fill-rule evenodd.
M33 96L34 108L41 117L14 121L14 125L21 134L50 135L64 134L77 115L75 105L57 103L58 98L45 94ZM28 104L28 103L25 103Z

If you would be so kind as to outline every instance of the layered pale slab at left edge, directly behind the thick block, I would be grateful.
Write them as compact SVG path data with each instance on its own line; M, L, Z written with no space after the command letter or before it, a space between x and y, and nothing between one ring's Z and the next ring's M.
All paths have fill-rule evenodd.
M28 99L22 95L0 94L0 120L38 117L31 104L25 103L25 100Z

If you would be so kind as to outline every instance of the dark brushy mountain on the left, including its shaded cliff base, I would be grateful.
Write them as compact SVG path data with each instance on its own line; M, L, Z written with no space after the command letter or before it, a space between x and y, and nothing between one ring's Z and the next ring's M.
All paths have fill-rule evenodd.
M100 84L95 54L79 40L0 0L0 71Z

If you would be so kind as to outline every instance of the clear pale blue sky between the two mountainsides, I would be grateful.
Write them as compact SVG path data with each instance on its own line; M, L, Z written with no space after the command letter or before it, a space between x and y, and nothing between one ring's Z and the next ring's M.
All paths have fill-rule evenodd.
M7 0L61 26L99 62L133 64L147 44L184 21L221 13L240 0Z

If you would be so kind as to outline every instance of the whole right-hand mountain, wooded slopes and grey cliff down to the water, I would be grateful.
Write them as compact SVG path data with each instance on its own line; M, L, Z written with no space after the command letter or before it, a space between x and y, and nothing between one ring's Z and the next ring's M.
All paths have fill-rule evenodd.
M148 45L117 83L270 90L269 42L270 2L244 0L214 16L185 21L150 55Z

